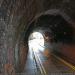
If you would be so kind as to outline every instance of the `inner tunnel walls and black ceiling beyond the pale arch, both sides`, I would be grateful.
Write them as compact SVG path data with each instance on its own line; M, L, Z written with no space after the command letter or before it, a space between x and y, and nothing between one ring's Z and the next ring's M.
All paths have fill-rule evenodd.
M29 51L29 40L32 39L31 35L34 32L42 34L44 38L44 46L46 43L50 44L51 50L48 50L49 52L45 52L47 53L45 56L48 56L48 53L52 52L66 61L75 64L75 54L73 54L75 48L72 49L72 47L66 47L70 47L71 45L74 46L75 43L74 28L72 25L61 15L41 15L38 18L35 18L31 24L28 25L27 30L25 29L21 34L23 41L21 44L24 46L22 45L22 48L18 52L19 62L17 62L18 64L16 65L17 72L22 72L24 70L25 60L27 59L26 57ZM67 49L65 50L65 48ZM43 49L41 50L43 51Z

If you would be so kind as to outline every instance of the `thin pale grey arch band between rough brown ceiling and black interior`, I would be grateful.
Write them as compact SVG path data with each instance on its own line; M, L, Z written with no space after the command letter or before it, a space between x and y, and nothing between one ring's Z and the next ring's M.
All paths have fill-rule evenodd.
M27 28L26 28L26 32L27 30L32 27L30 25L33 24L34 21L37 21L38 18L40 18L42 15L53 15L53 16L57 16L60 15L65 21L67 21L69 24L71 24L72 27L75 28L74 22L71 20L71 18L64 13L63 11L61 11L60 9L49 9L45 12L41 12L39 14L37 14L28 24Z

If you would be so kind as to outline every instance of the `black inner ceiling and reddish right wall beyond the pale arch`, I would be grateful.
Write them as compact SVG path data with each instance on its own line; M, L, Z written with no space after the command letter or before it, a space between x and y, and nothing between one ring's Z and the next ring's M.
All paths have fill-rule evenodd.
M54 54L57 56L67 59L66 61L74 63L74 54L72 49L65 50L66 45L74 45L74 29L70 23L68 23L61 15L41 15L36 18L29 25L28 30L26 31L25 40L28 41L29 36L33 32L40 32L44 36L45 42L51 44L51 48ZM47 40L47 37L49 38ZM64 45L64 46L63 46ZM62 47L63 46L63 47ZM72 48L72 47L71 47ZM65 50L65 51L64 51ZM50 51L49 51L50 52ZM70 57L73 55L73 57Z

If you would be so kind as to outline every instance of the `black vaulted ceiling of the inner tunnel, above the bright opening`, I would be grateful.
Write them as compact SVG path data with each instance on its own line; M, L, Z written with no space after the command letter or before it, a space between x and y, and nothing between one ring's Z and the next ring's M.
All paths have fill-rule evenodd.
M26 37L40 29L50 29L55 41L73 42L73 27L61 15L41 15L30 24Z

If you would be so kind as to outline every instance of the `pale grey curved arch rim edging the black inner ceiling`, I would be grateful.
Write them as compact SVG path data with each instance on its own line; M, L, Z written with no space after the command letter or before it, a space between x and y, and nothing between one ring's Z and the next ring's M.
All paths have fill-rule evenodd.
M49 9L45 12L41 12L39 14L37 14L29 23L29 25L34 21L36 20L37 18L39 18L40 16L42 15L61 15L68 23L70 24L74 24L74 22L72 21L72 19L65 13L63 12L62 10L60 9Z

